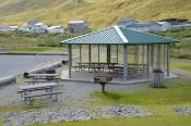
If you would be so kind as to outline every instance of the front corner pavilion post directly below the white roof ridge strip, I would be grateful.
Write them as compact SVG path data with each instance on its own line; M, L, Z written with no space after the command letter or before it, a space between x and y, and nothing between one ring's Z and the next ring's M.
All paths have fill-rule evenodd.
M123 45L123 80L128 79L128 46Z

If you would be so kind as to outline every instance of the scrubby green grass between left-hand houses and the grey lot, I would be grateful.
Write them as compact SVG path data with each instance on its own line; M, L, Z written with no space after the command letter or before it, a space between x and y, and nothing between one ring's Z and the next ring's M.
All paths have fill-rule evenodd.
M31 34L20 32L0 32L0 48L61 47L60 41L72 37L65 34Z

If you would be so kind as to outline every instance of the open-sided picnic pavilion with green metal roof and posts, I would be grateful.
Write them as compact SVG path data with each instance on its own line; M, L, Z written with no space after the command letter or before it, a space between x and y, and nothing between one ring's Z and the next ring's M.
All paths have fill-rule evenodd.
M97 66L103 66L103 73L108 72L108 67L114 66L111 71L114 73L121 72L120 76L123 80L129 79L130 75L139 75L141 70L145 77L150 77L153 68L160 68L167 76L170 76L170 47L176 42L178 42L176 39L140 33L119 26L111 26L61 41L61 43L68 45L69 78L72 78L73 64L76 64L73 63L72 49L75 47L74 49L76 50L77 46L79 62L75 68L77 66L83 70L82 66L84 66L84 70L95 68L100 71L100 67ZM83 49L83 46L86 46L86 48ZM95 49L94 55L96 58L92 56ZM103 52L102 49L106 51ZM87 50L87 55L82 53L84 50ZM112 61L114 55L115 61ZM83 56L88 58L86 63L83 61ZM104 62L100 61L103 58L105 59ZM120 68L120 71L116 71L116 68Z

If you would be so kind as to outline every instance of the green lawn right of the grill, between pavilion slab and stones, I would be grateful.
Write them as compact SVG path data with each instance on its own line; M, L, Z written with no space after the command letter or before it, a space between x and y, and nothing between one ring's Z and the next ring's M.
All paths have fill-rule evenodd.
M102 99L100 104L191 105L190 80L179 79L167 81L166 88L153 88L140 92L95 92L94 96ZM177 81L179 85L176 85Z

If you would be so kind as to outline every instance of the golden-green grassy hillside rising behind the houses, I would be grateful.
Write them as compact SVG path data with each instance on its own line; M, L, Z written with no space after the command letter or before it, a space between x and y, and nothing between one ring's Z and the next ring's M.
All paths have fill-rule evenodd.
M191 0L0 0L0 24L22 25L36 18L67 25L70 20L87 20L100 28L128 17L191 20Z

